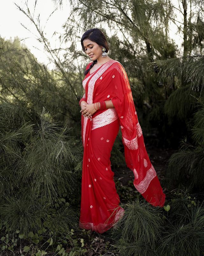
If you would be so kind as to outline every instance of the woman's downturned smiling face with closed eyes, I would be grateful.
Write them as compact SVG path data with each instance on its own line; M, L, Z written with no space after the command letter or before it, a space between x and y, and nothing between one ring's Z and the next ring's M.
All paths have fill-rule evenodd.
M86 54L89 55L91 60L96 60L101 56L102 46L98 45L97 43L89 39L84 39L83 45L84 45Z

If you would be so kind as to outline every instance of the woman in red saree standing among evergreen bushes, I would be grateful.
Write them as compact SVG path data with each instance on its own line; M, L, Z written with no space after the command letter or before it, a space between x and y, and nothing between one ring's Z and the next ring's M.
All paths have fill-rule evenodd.
M107 56L108 44L101 30L86 31L81 44L93 62L84 72L85 94L79 102L84 147L79 227L102 234L124 214L110 163L119 127L135 188L153 206L162 207L165 194L145 149L125 69Z

